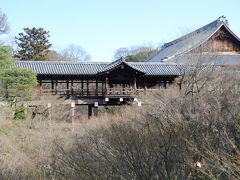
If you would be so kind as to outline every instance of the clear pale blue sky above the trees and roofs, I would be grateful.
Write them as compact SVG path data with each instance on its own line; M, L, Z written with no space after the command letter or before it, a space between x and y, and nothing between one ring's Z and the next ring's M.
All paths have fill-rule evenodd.
M116 49L174 40L225 15L240 36L239 0L0 0L14 39L25 27L49 31L52 49L84 48L91 61Z

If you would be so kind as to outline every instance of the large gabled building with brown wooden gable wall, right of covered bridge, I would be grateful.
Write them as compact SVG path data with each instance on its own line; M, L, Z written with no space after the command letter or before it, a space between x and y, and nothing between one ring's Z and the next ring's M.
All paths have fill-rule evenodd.
M240 64L240 38L234 34L226 17L164 44L157 55L146 62L185 65Z

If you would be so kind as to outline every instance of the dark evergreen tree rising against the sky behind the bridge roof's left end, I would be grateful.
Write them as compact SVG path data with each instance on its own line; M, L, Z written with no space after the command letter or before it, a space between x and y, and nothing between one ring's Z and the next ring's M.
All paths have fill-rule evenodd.
M19 47L16 57L21 60L46 60L48 49L51 47L48 38L49 32L43 28L24 28L19 33L17 45Z

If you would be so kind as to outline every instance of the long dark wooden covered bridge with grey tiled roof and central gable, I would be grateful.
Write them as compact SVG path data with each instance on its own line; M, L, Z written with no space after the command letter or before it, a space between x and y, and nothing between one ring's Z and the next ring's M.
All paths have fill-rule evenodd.
M112 63L18 61L17 66L37 73L40 96L102 99L103 104L125 102L148 89L167 88L180 67L162 63L133 63L123 58Z

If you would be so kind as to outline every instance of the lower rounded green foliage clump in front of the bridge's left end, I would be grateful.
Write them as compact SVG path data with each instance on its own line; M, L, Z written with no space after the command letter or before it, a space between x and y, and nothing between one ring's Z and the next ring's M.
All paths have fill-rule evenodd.
M5 98L12 101L31 100L32 91L37 85L36 74L29 69L10 68L2 74Z

